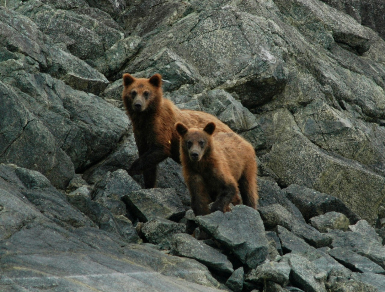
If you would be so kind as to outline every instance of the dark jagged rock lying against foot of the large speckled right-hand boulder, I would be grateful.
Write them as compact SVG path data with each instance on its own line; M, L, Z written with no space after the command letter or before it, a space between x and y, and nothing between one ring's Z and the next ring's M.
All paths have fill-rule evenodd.
M334 196L299 185L290 185L284 191L289 200L300 209L306 221L331 211L344 214L349 218L350 223L360 220L340 199Z

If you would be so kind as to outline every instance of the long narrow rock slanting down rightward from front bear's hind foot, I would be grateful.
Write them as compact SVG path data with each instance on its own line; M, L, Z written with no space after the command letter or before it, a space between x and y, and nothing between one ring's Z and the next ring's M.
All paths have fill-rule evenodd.
M273 229L277 225L280 225L315 247L329 245L329 237L318 232L306 223L299 222L288 210L279 204L261 207L259 208L259 213L267 229Z

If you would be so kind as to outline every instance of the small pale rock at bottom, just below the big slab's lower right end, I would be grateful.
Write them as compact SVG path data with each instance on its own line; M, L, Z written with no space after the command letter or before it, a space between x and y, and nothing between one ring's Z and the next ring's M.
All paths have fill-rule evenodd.
M285 287L289 284L290 271L290 265L285 260L281 262L266 262L248 272L246 280L257 283L271 281Z

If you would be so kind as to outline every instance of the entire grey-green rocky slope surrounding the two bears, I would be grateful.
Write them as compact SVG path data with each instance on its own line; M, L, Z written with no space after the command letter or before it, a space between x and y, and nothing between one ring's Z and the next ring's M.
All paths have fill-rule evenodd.
M380 11L0 1L0 290L385 291ZM124 72L253 144L258 211L194 218L171 160L157 189L127 175Z

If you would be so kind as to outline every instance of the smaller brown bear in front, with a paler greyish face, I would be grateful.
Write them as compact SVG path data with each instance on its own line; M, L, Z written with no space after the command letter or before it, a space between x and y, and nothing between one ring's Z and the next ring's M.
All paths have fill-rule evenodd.
M228 211L239 200L256 209L258 204L257 164L253 146L236 133L213 135L215 123L204 129L175 128L181 136L180 152L184 180L196 216ZM238 188L239 186L239 188ZM209 210L209 203L214 202Z

